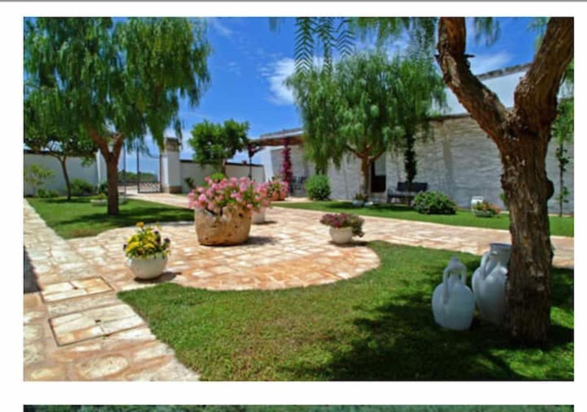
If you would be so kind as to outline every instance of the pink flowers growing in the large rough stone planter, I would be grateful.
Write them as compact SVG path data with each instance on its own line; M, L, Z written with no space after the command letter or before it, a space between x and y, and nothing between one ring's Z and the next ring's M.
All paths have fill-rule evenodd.
M267 190L262 185L255 185L246 177L220 181L206 178L206 184L195 188L188 195L190 208L207 210L215 215L222 214L222 208L239 207L244 210L259 210L269 205Z

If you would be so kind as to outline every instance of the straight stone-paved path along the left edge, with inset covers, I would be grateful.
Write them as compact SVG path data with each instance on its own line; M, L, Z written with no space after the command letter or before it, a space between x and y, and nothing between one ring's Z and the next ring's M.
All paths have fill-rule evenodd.
M23 296L25 380L198 379L26 200L23 209L25 284L41 289Z

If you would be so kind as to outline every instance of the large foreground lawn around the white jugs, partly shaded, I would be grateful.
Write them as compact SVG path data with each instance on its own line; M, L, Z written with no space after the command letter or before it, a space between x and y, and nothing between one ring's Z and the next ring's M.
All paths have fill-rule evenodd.
M212 292L164 283L120 292L205 380L572 380L573 272L554 271L551 340L517 346L475 319L451 332L430 296L452 255L369 244L377 269L332 285Z

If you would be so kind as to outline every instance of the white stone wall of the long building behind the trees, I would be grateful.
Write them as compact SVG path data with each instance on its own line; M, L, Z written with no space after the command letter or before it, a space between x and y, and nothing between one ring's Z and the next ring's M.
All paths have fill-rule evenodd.
M488 201L504 207L500 200L502 166L497 147L470 117L450 119L434 123L434 139L416 145L416 181L429 184L429 190L440 190L452 197L459 206L468 207L471 197L483 196ZM556 145L551 141L546 158L548 178L554 183L555 195L549 200L549 211L557 212L555 200L559 193L558 166L555 157ZM565 173L565 184L569 188L569 203L564 212L573 212L573 147L568 147L571 162ZM281 148L271 151L273 173L281 168ZM311 176L314 171L311 162L302 160L301 146L292 147L292 168L294 175ZM307 173L306 173L307 171ZM303 174L306 173L306 174ZM398 181L404 181L403 156L401 153L386 154L387 188L395 188ZM331 164L328 177L332 186L332 198L350 200L360 187L360 167L355 156L346 158L340 169Z

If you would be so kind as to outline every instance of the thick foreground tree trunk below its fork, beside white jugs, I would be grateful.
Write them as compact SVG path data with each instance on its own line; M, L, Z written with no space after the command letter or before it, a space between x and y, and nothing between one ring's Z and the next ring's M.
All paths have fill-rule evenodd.
M548 140L546 140L548 141ZM510 210L512 254L508 268L505 326L512 337L545 342L550 327L552 245L544 139L515 139L502 152L501 184Z

